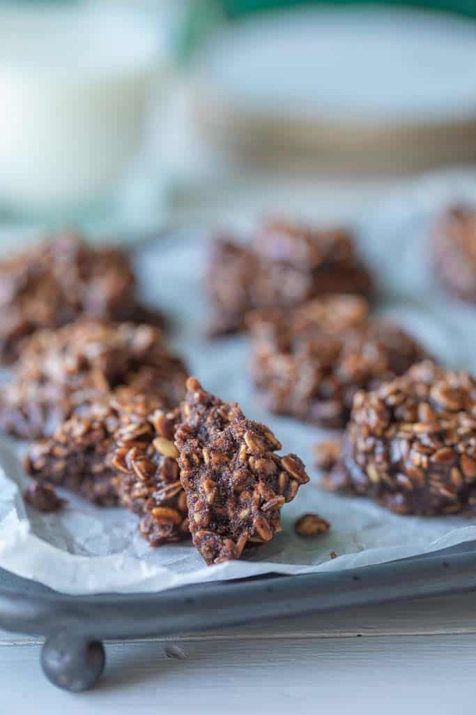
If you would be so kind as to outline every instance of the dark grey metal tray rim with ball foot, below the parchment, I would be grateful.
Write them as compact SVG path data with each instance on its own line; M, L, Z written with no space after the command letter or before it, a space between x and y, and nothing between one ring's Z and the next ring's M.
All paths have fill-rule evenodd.
M304 576L271 574L130 595L67 596L0 569L0 627L44 636L41 664L46 676L64 689L82 691L101 676L106 639L205 632L473 588L476 541L374 566Z

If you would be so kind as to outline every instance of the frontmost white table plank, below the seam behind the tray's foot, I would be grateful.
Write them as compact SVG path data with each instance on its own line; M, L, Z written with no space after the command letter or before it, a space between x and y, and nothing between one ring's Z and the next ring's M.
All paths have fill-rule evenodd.
M80 695L44 680L39 646L16 646L0 661L2 711L450 714L457 703L469 712L475 644L467 634L113 645L101 686Z

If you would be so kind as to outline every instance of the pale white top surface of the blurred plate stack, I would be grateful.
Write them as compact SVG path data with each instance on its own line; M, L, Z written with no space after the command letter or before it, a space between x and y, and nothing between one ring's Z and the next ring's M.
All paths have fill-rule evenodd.
M203 73L258 112L428 122L474 117L476 24L409 9L300 9L233 25Z

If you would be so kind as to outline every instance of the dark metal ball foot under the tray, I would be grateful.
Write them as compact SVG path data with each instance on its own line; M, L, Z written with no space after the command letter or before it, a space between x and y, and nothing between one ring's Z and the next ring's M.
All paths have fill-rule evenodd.
M101 641L59 633L41 650L41 667L54 685L73 693L89 690L101 677L106 662Z

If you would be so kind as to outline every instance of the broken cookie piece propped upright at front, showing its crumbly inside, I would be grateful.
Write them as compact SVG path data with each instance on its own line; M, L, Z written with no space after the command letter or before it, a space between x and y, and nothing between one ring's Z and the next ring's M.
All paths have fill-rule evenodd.
M281 445L268 428L196 378L188 378L182 415L175 444L193 543L208 564L239 558L247 543L280 531L280 509L309 477L296 455L276 454Z

